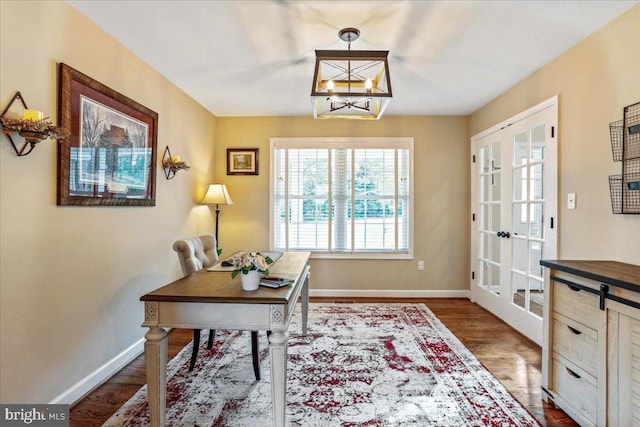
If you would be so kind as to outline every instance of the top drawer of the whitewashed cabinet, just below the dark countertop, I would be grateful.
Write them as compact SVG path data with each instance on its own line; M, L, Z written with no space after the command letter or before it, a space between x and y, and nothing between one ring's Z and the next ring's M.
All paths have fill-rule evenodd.
M585 290L575 291L563 283L553 283L553 311L591 329L598 329L599 309L598 295Z

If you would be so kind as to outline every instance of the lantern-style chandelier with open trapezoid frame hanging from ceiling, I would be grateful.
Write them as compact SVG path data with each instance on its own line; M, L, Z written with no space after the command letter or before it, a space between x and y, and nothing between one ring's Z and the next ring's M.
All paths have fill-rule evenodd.
M391 101L388 50L351 50L360 31L338 32L348 50L316 50L311 101L315 119L382 117Z

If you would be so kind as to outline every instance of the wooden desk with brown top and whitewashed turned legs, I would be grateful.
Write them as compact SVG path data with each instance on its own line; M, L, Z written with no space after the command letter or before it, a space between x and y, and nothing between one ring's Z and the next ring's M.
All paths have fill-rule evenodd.
M149 328L144 344L151 426L166 423L167 334L163 328L212 328L271 331L271 397L273 425L284 426L286 413L287 328L302 296L302 334L307 334L310 252L285 252L269 274L295 279L280 289L242 290L240 278L229 272L201 270L142 296L142 324Z

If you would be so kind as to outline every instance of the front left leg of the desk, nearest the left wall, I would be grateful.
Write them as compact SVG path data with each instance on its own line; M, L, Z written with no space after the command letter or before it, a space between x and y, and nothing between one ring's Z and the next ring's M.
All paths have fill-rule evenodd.
M147 394L151 427L166 424L167 406L167 331L157 326L145 334L144 357L147 368Z

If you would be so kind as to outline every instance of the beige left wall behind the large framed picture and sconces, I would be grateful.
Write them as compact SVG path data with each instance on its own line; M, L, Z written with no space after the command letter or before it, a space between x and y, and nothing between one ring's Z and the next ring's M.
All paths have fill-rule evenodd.
M176 237L212 230L197 206L214 176L215 118L64 2L0 2L0 103L20 91L57 119L64 62L159 114L193 167L155 207L56 206L56 143L15 156L0 136L0 401L46 403L142 338L139 297L180 275ZM159 160L158 160L159 163Z

